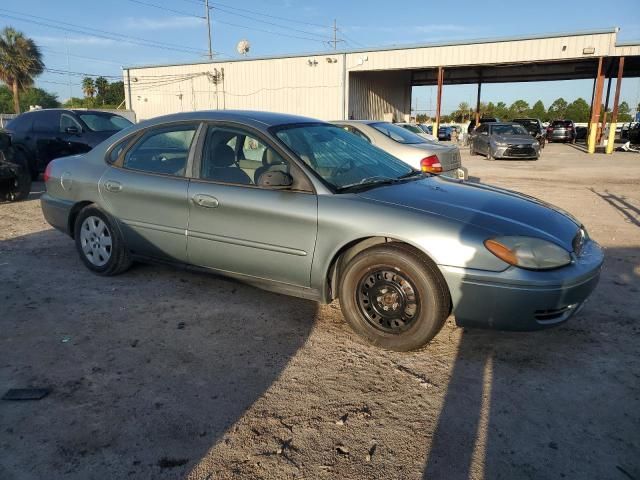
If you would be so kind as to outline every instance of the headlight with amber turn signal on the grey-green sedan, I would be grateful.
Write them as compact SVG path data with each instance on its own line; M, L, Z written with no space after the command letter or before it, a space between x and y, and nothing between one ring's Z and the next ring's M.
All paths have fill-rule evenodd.
M484 241L500 260L530 270L549 270L571 263L571 255L555 243L535 237L496 237Z

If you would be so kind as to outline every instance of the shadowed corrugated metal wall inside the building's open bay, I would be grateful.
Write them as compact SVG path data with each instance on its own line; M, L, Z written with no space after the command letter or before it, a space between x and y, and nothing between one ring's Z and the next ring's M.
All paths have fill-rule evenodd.
M404 121L411 110L411 73L350 72L348 116L354 120Z

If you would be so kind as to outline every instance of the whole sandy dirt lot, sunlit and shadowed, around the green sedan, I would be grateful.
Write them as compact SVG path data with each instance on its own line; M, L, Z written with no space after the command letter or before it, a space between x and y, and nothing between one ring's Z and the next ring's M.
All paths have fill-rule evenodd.
M32 199L0 205L0 479L640 479L640 155L469 157L606 248L568 323L449 319L371 347L337 304L138 265L101 278Z

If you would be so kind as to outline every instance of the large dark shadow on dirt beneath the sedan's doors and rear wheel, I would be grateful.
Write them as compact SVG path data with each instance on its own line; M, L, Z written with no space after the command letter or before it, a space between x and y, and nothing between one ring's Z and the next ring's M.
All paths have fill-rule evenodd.
M181 478L305 345L317 304L136 265L90 273L45 230L0 242L0 478ZM25 448L28 445L38 448Z

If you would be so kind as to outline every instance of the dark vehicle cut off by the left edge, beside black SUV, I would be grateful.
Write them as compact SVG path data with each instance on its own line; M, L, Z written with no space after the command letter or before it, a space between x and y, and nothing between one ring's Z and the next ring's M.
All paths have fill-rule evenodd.
M31 175L24 154L0 131L0 201L24 200L31 190Z

